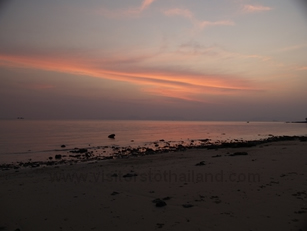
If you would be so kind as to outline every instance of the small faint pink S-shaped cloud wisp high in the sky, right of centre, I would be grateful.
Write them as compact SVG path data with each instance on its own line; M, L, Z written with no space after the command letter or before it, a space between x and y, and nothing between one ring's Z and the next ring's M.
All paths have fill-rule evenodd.
M189 19L196 28L198 29L203 29L205 27L209 26L233 26L235 23L231 20L220 20L220 21L201 21L198 20L194 14L188 10L188 9L180 9L180 8L174 8L174 9L169 9L165 10L164 15L166 16L181 16L184 18Z

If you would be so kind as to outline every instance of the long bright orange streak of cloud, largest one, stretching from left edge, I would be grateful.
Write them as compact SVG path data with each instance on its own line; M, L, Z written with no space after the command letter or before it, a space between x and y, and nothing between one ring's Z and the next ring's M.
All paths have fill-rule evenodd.
M129 58L120 60L129 60ZM101 62L101 59L86 57L76 59L73 56L59 58L57 55L48 57L29 54L0 55L0 65L125 81L139 85L140 89L148 94L193 101L202 101L204 95L229 95L242 91L259 90L250 81L238 76L212 75L188 70L139 68L137 66L131 68L130 65L127 65L127 68L118 69L116 68L118 65L109 65L109 63ZM49 87L47 86L47 88Z

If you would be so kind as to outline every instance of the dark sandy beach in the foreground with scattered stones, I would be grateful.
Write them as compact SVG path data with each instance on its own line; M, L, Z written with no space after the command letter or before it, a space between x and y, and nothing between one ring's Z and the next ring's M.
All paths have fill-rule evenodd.
M307 142L2 170L0 230L306 230Z

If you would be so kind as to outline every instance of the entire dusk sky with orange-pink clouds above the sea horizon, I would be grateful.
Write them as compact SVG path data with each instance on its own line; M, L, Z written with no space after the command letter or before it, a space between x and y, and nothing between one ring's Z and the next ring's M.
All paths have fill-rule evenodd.
M0 119L307 117L303 0L2 0Z

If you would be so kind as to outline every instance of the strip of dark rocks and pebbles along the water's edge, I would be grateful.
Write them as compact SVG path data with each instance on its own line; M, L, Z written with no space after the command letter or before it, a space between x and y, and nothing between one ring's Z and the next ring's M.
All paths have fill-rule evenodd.
M220 148L242 148L242 147L253 147L265 143L279 142L279 141L290 141L299 140L301 142L307 141L307 136L273 136L269 138L259 140L231 140L231 141L217 141L211 142L210 139L198 139L184 141L165 141L159 140L152 142L149 146L138 146L137 148L128 147L109 147L109 146L98 146L98 147L86 147L86 148L74 148L66 149L67 154L55 154L54 157L50 156L46 161L35 161L29 160L16 161L12 163L0 164L0 170L6 171L20 168L39 168L48 166L61 166L67 164L78 164L93 161L103 161L109 159L127 159L130 157L140 157L147 155L163 154L168 152L178 152L190 149L220 149ZM105 152L106 149L112 149L109 156L96 155L97 150ZM63 151L63 150L61 150ZM55 151L56 152L56 151Z

